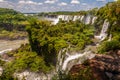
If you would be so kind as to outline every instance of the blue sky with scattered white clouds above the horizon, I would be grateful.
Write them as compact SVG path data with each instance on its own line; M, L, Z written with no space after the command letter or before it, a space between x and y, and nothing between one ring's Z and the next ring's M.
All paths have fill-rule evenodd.
M99 8L113 1L116 0L0 0L0 7L23 13L80 11Z

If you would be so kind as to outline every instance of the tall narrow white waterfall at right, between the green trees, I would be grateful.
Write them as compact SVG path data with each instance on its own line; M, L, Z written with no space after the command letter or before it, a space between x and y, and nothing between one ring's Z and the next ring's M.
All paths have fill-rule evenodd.
M102 27L100 35L99 36L95 36L95 38L100 39L100 41L104 40L107 37L108 27L109 27L109 22L106 19L104 21L104 23L103 23L103 27Z

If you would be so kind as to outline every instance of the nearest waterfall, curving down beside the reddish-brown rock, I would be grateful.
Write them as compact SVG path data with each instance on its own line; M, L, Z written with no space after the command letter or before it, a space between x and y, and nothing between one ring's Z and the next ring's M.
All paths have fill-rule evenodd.
M70 46L68 48L64 48L60 50L58 54L58 63L56 66L56 71L62 71L67 73L71 67L75 64L81 64L87 59L91 59L95 56L95 54L92 53L88 48L89 46L86 46L84 49L84 52L70 52ZM72 53L72 54L71 54ZM69 66L69 67L68 67Z

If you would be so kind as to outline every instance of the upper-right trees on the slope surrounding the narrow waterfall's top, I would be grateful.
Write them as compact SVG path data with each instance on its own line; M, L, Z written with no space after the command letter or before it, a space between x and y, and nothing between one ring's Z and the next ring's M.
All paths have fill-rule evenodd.
M110 22L110 28L108 34L112 34L113 37L116 36L116 33L120 33L120 1L110 2L106 6L100 8L96 16L98 17L95 21L96 32L100 32L102 24L105 19ZM99 27L98 27L99 26Z

